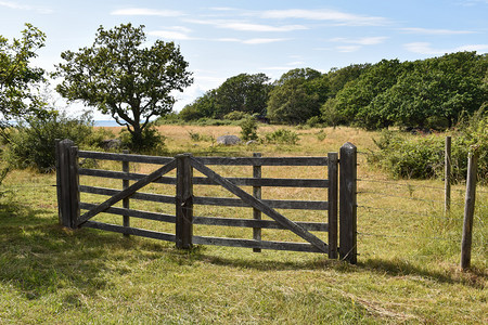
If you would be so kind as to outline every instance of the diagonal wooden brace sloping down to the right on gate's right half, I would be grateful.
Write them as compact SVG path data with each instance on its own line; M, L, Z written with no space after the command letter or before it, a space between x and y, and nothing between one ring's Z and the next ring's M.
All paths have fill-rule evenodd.
M257 158L255 158L257 159ZM309 233L308 231L304 230L301 226L297 225L295 222L291 221L290 219L286 219L269 206L267 206L261 200L253 197L248 193L244 192L240 187L232 184L230 181L226 180L224 178L218 176L215 171L206 167L205 165L202 165L198 160L194 159L193 157L190 158L191 165L193 168L205 174L206 177L213 179L216 181L219 185L221 185L223 188L230 191L234 195L236 195L239 198L251 205L253 208L259 209L261 212L266 213L271 219L279 222L281 225L285 226L287 230L292 231L296 235L300 236L305 240L309 242L313 246L316 246L319 250L322 252L328 252L328 248L325 243L323 243L320 238L318 238L316 235Z

